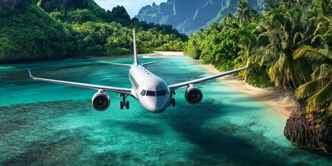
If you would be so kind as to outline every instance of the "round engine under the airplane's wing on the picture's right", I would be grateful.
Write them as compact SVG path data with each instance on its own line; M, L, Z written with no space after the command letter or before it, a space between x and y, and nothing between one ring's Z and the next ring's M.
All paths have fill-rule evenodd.
M189 104L199 104L203 99L203 93L201 89L194 86L194 84L190 84L187 89L185 89L185 100Z

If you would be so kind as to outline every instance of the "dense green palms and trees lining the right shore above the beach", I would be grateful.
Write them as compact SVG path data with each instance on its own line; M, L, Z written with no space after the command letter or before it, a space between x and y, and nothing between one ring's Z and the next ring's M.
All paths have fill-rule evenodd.
M332 2L270 0L257 14L240 0L237 12L190 36L185 52L220 71L250 66L248 84L295 91L306 111L332 116Z

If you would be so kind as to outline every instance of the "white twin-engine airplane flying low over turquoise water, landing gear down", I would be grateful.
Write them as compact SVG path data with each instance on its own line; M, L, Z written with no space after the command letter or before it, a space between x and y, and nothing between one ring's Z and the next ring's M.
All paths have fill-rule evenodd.
M118 64L105 62L107 64L127 66L130 68L129 81L132 85L131 89L34 77L30 72L30 69L28 69L28 73L33 80L98 90L98 92L93 95L93 98L91 100L93 108L97 111L105 111L109 108L109 105L111 104L111 99L109 98L109 95L105 93L105 91L110 91L120 94L119 97L122 99L122 101L120 101L120 109L124 109L124 107L126 107L126 109L129 109L129 102L126 99L128 96L131 96L134 99L138 100L140 104L142 104L142 107L147 109L147 111L150 111L151 113L162 113L170 105L175 107L176 103L174 95L176 94L175 91L177 89L187 87L187 89L185 90L185 100L187 100L187 102L190 104L199 104L203 100L203 93L201 89L195 86L195 84L242 71L248 68L249 65L249 63L247 63L246 66L234 69L232 71L226 71L223 73L210 75L208 77L201 77L199 79L189 80L187 82L181 82L178 84L167 85L163 79L161 79L157 75L154 75L151 71L145 68L145 66L149 64L155 64L162 61L163 60L147 62L143 64L138 63L135 29L133 29L133 64Z

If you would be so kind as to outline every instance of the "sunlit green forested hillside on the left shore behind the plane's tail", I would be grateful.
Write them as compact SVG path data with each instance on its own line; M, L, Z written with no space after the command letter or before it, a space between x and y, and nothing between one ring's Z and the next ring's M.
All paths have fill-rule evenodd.
M93 0L75 4L80 8L69 0L65 2L71 6L53 0L24 2L0 10L0 60L128 55L133 52L133 28L138 53L183 50L187 40L172 26L130 19L120 6L111 12Z

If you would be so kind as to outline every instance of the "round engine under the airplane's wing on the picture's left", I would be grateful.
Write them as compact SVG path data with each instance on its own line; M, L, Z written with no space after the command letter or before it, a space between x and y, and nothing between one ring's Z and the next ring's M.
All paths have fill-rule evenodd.
M92 97L92 106L97 111L105 111L109 108L111 104L111 99L107 93L104 93L104 90L99 90Z

